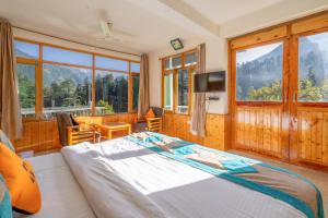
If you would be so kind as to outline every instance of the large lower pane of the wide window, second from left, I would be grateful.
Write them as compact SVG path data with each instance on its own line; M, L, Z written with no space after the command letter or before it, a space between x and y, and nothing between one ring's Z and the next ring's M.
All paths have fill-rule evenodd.
M92 70L44 64L44 113L91 114Z

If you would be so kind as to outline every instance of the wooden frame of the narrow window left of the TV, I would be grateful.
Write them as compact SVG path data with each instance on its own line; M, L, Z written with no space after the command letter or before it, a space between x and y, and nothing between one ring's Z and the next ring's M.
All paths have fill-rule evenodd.
M162 65L162 108L164 108L165 112L167 113L176 113L176 114L181 114L181 116L190 116L192 111L192 72L197 69L197 63L195 64L185 64L185 57L186 53L192 53L196 52L197 56L197 49L190 49L177 55L173 56L167 56L164 58L161 58L161 65ZM172 58L181 58L181 66L179 68L171 68L169 70L165 69L165 61L169 60ZM171 61L172 62L172 61ZM177 111L177 86L178 86L178 71L179 70L187 70L188 71L188 111L186 113L180 113ZM165 87L164 87L164 77L166 74L173 74L173 107L172 110L165 109Z

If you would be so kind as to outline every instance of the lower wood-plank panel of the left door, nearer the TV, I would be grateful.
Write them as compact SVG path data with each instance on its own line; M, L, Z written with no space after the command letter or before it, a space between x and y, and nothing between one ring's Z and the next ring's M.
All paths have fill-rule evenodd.
M236 108L235 148L282 157L282 107Z

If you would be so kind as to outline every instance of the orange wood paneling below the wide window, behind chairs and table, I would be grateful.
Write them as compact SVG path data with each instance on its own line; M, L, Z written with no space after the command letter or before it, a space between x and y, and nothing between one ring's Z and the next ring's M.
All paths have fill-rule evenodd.
M106 122L128 122L133 123L136 113L120 113L103 117L79 117L78 121L83 123L106 123ZM24 120L23 137L14 141L16 153L33 150L34 153L43 153L50 150L59 150L61 148L57 121L54 120ZM121 135L119 132L116 136Z

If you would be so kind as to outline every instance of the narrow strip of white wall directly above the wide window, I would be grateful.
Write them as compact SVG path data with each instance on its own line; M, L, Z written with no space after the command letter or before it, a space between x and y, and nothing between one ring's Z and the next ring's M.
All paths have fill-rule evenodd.
M20 28L13 28L13 35L14 35L14 37L35 40L35 41L39 41L39 43L51 44L51 45L62 46L62 47L72 48L72 49L80 49L80 50L84 50L84 51L97 52L97 53L113 56L113 57L117 57L117 58L125 58L125 59L129 59L129 60L140 61L140 57L137 57L137 56L131 56L131 55L115 52L115 51L110 51L110 50L94 48L91 46L84 46L81 44L75 44L75 43L54 38L50 36L45 36L42 34L23 31Z

